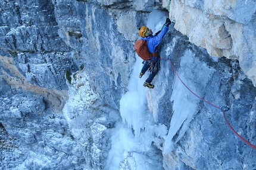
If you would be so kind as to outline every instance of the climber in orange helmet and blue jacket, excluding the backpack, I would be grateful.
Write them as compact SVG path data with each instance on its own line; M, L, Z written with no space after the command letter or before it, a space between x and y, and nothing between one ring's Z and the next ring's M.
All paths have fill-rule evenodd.
M141 78L149 69L150 74L148 76L148 79L146 79L143 84L143 86L146 86L148 88L154 88L154 85L152 85L151 82L157 74L158 69L160 69L160 55L158 45L160 44L160 41L163 39L163 37L166 35L168 31L168 26L170 24L171 21L169 18L167 18L162 30L158 31L154 36L150 28L146 26L142 26L141 28L139 28L139 35L142 37L142 40L148 41L148 50L149 53L152 54L151 59L144 61L143 68L141 70L141 73L139 74L139 78Z

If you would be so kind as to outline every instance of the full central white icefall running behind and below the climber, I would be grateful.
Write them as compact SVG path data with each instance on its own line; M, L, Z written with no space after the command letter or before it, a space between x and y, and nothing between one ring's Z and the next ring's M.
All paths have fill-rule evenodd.
M167 12L151 12L147 26L154 33L161 30L166 16ZM152 113L148 110L143 82L148 78L149 73L146 72L140 79L142 66L142 59L136 56L136 63L129 80L129 91L123 94L120 100L123 122L113 130L111 150L104 169L126 169L127 165L136 170L163 169L161 154L157 155L151 145L153 141L158 142L155 136L165 136L167 129L166 126L155 124Z

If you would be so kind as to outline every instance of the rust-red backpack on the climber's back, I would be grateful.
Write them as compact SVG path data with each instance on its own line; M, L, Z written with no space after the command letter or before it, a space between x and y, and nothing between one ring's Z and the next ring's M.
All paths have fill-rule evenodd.
M155 47L157 49L157 47ZM156 53L149 53L148 50L148 41L139 39L134 44L134 49L138 56L140 56L143 60L150 60L151 57L158 56L158 52Z

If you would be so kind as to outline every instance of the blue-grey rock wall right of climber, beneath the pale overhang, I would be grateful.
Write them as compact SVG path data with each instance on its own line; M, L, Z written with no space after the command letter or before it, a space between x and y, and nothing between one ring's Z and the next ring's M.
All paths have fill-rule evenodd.
M230 107L226 112L228 121L255 144L256 88L238 60L221 57L214 61L206 50L191 44L188 37L177 31L167 34L161 47L162 56L167 54L182 81L211 104ZM165 169L254 168L254 149L235 136L218 108L199 100L185 88L168 60L161 61L155 82L154 91L148 91L148 105L155 121L169 128L164 146L159 146ZM172 119L184 115L176 129L180 122Z

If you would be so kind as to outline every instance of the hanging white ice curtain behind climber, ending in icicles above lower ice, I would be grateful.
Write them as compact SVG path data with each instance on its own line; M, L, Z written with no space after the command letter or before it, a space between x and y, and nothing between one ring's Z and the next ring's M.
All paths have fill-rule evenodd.
M166 17L167 12L152 11L148 17L147 27L156 33L163 27ZM139 135L141 129L144 129L147 114L152 116L147 107L146 90L142 86L145 79L148 78L148 72L141 79L139 78L142 66L142 59L136 55L136 63L128 85L129 91L120 100L120 112L123 122L127 122L128 126L133 128L135 135Z

